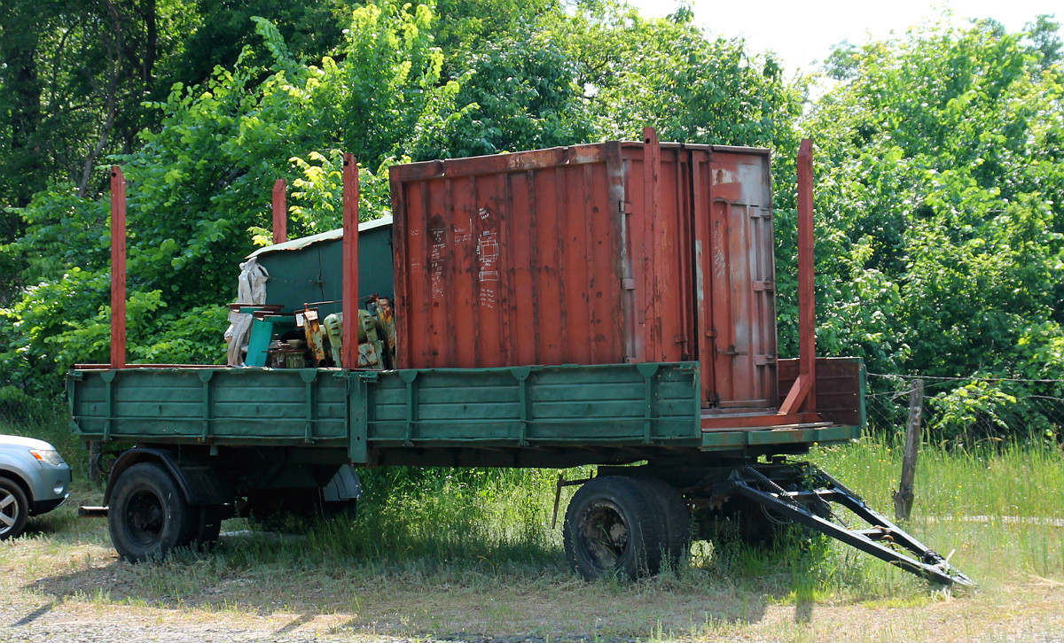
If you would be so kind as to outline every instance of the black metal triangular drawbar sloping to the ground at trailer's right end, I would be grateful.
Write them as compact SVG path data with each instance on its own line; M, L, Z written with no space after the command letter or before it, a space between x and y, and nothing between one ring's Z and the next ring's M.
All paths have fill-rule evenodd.
M816 467L808 467L812 489L786 491L752 467L732 471L733 491L766 509L827 534L852 547L871 554L902 570L941 585L975 587L975 582L949 564L936 552L920 543L890 520L865 504L842 483ZM837 524L828 503L837 503L868 523L869 528L851 529ZM893 545L893 546L887 546ZM904 552L912 554L907 555Z

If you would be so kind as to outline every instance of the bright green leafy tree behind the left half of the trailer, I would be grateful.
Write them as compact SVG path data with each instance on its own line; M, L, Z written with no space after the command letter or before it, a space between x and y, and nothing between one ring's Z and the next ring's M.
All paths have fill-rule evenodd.
M437 145L463 113L453 107L458 85L440 79L431 21L423 5L360 7L333 55L309 65L271 22L257 19L270 70L242 58L203 85L174 85L165 102L150 105L164 115L161 129L144 132L139 149L119 159L130 185L134 360L223 355L222 304L232 299L240 257L269 220L278 176L301 176L294 234L320 232L336 222L329 213L338 211L338 185L322 179L338 176L337 148L358 151L376 171L363 172L364 196L380 200L381 168ZM363 211L380 213L379 203ZM0 385L50 391L71 363L105 359L107 216L107 194L83 197L69 183L21 210L27 232L9 252L29 259L26 280L37 285L0 311Z

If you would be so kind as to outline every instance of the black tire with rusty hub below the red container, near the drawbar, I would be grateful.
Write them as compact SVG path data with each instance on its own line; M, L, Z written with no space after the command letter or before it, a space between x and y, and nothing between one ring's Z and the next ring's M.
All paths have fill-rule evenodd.
M620 574L634 580L661 570L665 518L647 486L622 476L595 478L569 502L563 541L581 578Z

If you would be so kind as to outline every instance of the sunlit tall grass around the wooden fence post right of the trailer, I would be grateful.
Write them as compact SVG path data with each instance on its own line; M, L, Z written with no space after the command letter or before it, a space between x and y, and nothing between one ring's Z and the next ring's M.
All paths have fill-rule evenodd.
M815 449L811 459L893 515L901 472L900 437ZM971 450L924 445L905 525L981 585L1064 577L1064 452L1001 443ZM846 555L849 555L848 553ZM867 568L865 562L861 562ZM880 564L880 563L877 563ZM881 565L883 566L883 565ZM867 568L871 574L879 571Z

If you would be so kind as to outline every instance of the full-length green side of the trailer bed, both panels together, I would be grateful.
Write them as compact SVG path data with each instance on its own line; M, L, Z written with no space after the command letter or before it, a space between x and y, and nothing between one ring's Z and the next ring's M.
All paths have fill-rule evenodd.
M789 445L793 453L860 433L831 422L706 432L699 386L697 362L383 372L133 367L76 370L67 392L73 432L86 441L343 449L355 464L404 456L429 462L432 453L446 454L442 463L458 457L482 466L593 463L611 451L610 461L677 449ZM520 462L515 453L523 453Z

